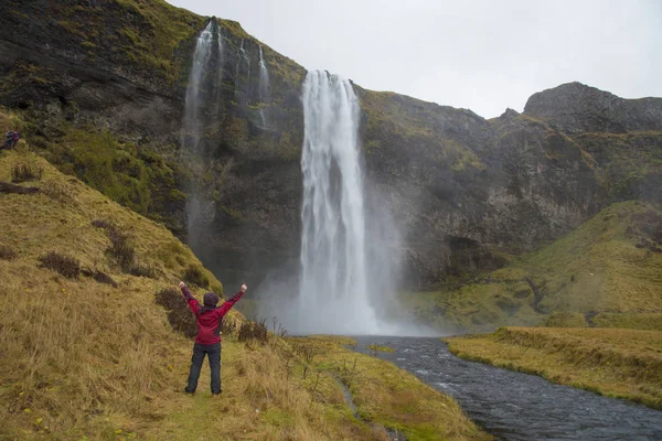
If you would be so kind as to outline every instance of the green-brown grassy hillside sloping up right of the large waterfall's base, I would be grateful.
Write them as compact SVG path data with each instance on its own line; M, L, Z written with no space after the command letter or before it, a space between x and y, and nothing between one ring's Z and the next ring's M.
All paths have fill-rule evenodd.
M450 332L548 320L661 329L661 292L662 214L633 201L467 284L404 298L420 318Z

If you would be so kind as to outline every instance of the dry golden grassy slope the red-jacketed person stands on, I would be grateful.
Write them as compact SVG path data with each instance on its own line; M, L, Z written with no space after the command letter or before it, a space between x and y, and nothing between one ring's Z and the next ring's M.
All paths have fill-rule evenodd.
M211 398L206 367L185 396L191 341L172 327L185 304L167 294L180 278L197 295L221 283L166 227L25 149L0 153L0 182L38 189L0 193L0 438L385 440L394 428L412 440L485 439L449 398L370 357L356 362L370 395L363 379L352 391L371 410L355 417L319 363L351 353L309 358L299 343L250 337L236 314L224 329L223 397ZM170 312L154 302L164 297ZM421 429L393 408L403 391L387 378L436 423Z

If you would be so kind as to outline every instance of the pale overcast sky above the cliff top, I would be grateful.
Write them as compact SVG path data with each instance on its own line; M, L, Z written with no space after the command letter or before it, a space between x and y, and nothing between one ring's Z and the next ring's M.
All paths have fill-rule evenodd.
M578 80L662 97L662 0L168 0L306 68L491 118Z

